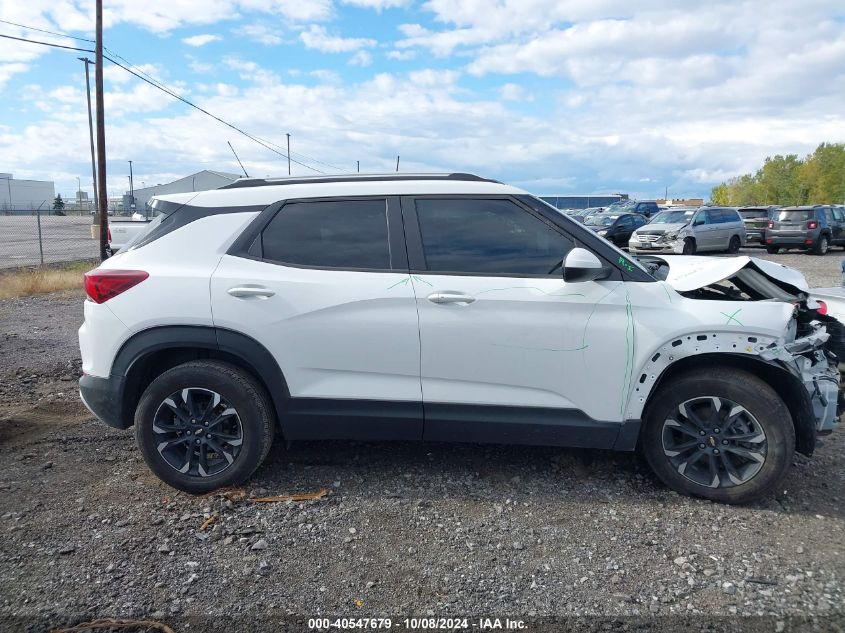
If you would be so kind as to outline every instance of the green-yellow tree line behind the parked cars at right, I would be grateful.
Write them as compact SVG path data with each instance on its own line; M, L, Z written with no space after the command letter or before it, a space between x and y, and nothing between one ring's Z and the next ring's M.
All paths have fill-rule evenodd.
M845 203L845 143L822 143L804 159L770 156L754 174L713 187L714 204L731 207Z

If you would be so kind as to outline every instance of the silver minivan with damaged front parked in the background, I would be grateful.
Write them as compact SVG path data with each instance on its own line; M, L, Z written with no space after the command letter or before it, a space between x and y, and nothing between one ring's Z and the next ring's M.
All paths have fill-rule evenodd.
M736 253L745 246L745 225L733 207L682 207L661 211L631 234L631 253L695 255Z

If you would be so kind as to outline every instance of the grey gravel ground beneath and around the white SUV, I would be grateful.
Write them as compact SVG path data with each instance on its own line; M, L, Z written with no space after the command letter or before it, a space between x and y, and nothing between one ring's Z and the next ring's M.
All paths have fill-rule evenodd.
M838 253L766 257L839 283ZM405 443L278 444L243 491L191 497L79 403L81 299L0 301L0 630L116 617L298 631L315 616L410 615L845 628L841 429L746 507L678 496L635 455Z

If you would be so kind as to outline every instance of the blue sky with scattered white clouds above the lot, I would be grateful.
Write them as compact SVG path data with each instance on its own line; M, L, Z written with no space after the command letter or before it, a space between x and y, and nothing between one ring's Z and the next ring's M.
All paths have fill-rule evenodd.
M845 141L841 0L105 0L112 53L294 175L468 171L533 193L698 196ZM93 0L0 19L94 37ZM0 22L0 34L93 48ZM0 39L0 172L91 192L85 53ZM93 57L93 55L91 55ZM109 195L287 161L108 62ZM92 68L93 84L93 68ZM301 164L300 164L301 163Z

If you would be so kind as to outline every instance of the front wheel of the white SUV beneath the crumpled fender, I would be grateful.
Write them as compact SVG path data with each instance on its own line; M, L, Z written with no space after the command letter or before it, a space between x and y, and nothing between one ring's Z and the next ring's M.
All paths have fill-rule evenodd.
M737 406L743 411L732 417ZM681 407L689 417L680 414ZM707 419L714 410L721 416ZM749 439L729 441L733 436ZM687 448L689 444L694 446ZM722 503L747 503L772 492L783 480L795 451L795 430L789 409L768 383L722 367L718 373L687 372L661 387L644 416L640 445L652 470L673 490Z

